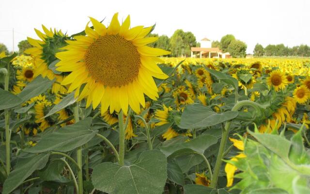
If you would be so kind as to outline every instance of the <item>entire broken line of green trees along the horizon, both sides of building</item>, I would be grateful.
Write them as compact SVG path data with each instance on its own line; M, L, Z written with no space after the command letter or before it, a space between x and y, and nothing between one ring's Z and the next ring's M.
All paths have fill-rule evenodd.
M196 40L196 36L192 32L184 32L181 29L176 30L171 37L167 35L158 35L150 33L149 37L158 37L155 43L149 46L171 51L169 57L189 57L191 47L200 47L200 42ZM32 46L27 40L22 40L18 43L19 54L24 54L24 51ZM219 48L222 52L229 52L233 58L243 58L246 56L247 44L236 39L233 34L224 35L220 41L213 41L212 47ZM9 54L7 47L0 43L0 52L5 51ZM310 47L307 45L295 46L292 48L285 47L283 44L268 45L263 48L262 45L256 44L253 50L255 57L262 56L300 56L310 57Z

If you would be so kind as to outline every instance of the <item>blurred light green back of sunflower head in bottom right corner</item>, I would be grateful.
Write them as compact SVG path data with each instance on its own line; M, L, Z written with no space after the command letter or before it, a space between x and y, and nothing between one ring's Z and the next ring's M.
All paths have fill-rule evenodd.
M303 144L302 129L290 140L278 134L248 132L258 142L247 139L244 150L247 157L229 161L242 171L235 176L242 180L233 189L242 190L241 194L310 192L310 155Z

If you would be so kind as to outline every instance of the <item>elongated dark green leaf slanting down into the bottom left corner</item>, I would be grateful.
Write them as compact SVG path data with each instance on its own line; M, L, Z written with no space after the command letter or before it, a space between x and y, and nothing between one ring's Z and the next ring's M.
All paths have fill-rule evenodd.
M18 165L13 170L3 184L2 194L9 194L14 191L26 178L31 176L35 170L40 170L45 167L49 158L49 153L33 155L23 159L23 165Z

